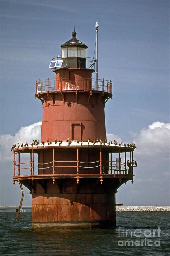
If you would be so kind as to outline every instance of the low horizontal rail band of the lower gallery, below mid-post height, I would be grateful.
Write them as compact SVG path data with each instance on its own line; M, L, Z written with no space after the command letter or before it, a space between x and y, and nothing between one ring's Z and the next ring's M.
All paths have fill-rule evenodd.
M128 166L127 166L128 163ZM25 175L24 170L29 170L26 175L37 175L37 174L133 174L132 162L121 162L118 161L107 161L102 162L78 162L77 161L51 161L48 163L37 163L34 162L20 162L16 164L14 162L14 176ZM24 167L29 165L29 167ZM48 165L48 166L47 166ZM45 167L47 166L47 167ZM35 173L36 168L36 173ZM70 168L73 170L70 171ZM68 172L66 171L68 169ZM64 172L66 171L66 172ZM18 172L18 173L17 173Z

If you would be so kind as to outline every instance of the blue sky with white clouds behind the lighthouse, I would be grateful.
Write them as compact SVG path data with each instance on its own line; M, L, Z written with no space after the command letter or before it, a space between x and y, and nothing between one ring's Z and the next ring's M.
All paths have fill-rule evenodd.
M117 192L123 205L169 205L169 1L0 0L0 205L19 205L11 145L40 138L42 104L35 80L71 38L93 57L98 30L98 78L113 81L105 105L108 138L134 141L134 183ZM95 78L95 74L93 76ZM27 189L25 189L27 192ZM28 193L28 192L27 192ZM23 205L30 205L25 195Z

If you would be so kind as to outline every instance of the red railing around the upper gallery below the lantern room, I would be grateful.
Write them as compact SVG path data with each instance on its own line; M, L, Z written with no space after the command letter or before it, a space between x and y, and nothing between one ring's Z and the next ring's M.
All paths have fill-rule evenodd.
M49 91L102 91L112 93L112 81L92 78L60 78L36 81L36 93Z

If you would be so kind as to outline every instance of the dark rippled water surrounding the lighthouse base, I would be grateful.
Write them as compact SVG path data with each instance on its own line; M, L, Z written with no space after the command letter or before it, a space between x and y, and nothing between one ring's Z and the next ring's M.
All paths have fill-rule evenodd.
M0 213L0 255L170 255L169 212L117 212L116 229L93 230L32 230L31 213L20 216L22 219L15 222L16 213ZM146 237L148 229L158 227L160 237L158 233ZM127 237L126 233L122 237L122 230L127 229ZM136 229L141 237L134 235ZM125 240L152 243L119 246Z

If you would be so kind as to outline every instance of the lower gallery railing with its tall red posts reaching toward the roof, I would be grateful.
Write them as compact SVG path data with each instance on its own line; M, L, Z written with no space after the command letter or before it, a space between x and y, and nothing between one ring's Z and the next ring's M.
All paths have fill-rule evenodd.
M133 167L137 166L136 161L133 160L133 152L130 152L130 158L127 160L126 152L124 161L121 161L121 153L119 150L119 157L116 161L112 161L112 154L110 160L102 159L102 149L100 148L100 159L95 162L81 162L79 158L79 148L76 149L77 158L75 161L55 161L55 149L52 148L52 161L47 163L37 163L34 161L34 149L30 153L30 162L20 161L20 150L14 152L14 176L21 175L46 175L46 174L133 174ZM18 154L18 161L16 163L16 154ZM26 174L24 171L28 171ZM21 173L22 172L22 173Z

